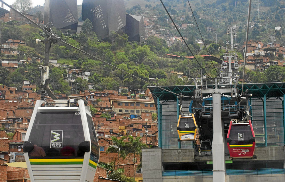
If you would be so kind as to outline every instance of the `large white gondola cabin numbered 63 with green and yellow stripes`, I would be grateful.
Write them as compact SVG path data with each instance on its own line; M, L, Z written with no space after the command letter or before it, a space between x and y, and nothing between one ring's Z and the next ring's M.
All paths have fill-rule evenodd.
M24 140L31 182L91 182L99 145L89 106L83 100L38 100Z

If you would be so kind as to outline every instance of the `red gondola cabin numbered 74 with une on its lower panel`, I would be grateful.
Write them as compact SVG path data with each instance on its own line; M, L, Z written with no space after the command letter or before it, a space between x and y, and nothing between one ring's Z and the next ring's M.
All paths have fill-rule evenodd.
M237 120L230 122L227 135L227 146L230 159L253 158L255 149L255 135L251 120L239 123Z

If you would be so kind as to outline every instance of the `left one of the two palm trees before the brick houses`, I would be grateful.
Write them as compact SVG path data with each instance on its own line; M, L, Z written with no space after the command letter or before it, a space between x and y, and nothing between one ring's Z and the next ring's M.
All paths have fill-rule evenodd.
M127 138L127 136L121 137L119 140L116 137L111 137L113 145L109 146L107 148L106 153L118 153L117 159L118 159L118 167L119 167L119 159L123 158L124 160L124 165L123 168L125 167L125 158L127 156L127 149L126 149L126 143L124 140ZM114 170L115 170L115 165L116 165L116 158L114 161Z

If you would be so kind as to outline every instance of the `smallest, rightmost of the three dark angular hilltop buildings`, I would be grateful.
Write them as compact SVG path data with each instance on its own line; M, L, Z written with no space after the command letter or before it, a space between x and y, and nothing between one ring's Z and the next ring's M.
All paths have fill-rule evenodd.
M143 17L136 15L126 15L126 31L129 41L144 42Z

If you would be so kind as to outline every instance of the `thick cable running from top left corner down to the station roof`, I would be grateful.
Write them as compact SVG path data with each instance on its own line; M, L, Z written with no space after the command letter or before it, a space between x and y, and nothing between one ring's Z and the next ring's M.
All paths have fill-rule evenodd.
M8 5L7 3L5 3L3 0L0 0L0 2L4 3L6 6L8 6L9 8L11 8L11 9L14 10L15 12L19 13L21 16L23 16L23 17L26 18L27 20L30 20L30 22L32 22L32 24L36 25L38 28L40 28L41 30L43 30L46 34L52 36L53 38L55 38L56 40L62 42L63 44L65 44L65 45L67 45L67 46L69 46L69 47L72 47L72 48L74 48L74 49L76 49L76 50L78 50L78 51L80 51L80 52L82 52L82 53L88 55L89 57L94 58L94 59L97 59L97 60L99 60L99 61L101 61L101 62L103 62L103 63L105 63L105 64L107 64L107 65L109 65L109 66L111 66L111 67L113 67L113 68L116 68L116 69L118 69L118 70L120 70L120 71L122 71L122 72L124 72L124 73L127 73L128 75L131 75L131 76L133 76L133 77L135 77L135 78L137 78L137 79L139 79L139 80L142 80L142 81L144 81L144 82L146 82L146 83L148 83L148 84L150 84L150 85L152 85L152 86L156 86L156 87L158 87L158 88L160 88L160 89L162 89L162 90L165 90L165 91L170 92L170 93L172 93L172 94L175 94L175 95L177 95L177 96L184 97L183 95L176 94L176 93L171 92L171 91L169 91L169 90L166 90L166 89L164 89L164 88L162 88L162 87L160 87L160 86L157 86L157 85L155 85L155 84L153 84L153 83L151 83L151 82L148 82L148 81L146 81L146 80L144 80L144 79L142 79L142 78L139 78L138 76L132 75L131 73L128 73L127 71L124 71L124 70L122 70L122 69L120 69L120 68L118 68L118 67L116 67L116 66L114 66L114 65L111 65L110 63L107 63L106 61L103 61L103 60L101 60L101 59L99 59L99 58L97 58L97 57L95 57L95 56L93 56L93 55L91 55L91 54L89 54L89 53L87 53L87 52L85 52L85 51L83 51L83 50L77 48L77 47L74 47L74 46L68 44L67 42L64 42L60 37L57 37L57 36L55 36L55 34L52 34L52 33L48 32L47 30L45 30L44 28L42 28L40 25L38 25L38 24L36 24L35 22L33 22L30 18L28 18L28 17L25 16L24 14L20 13L19 11L17 11L15 8L13 8L13 7L11 7L10 5ZM184 40L184 39L183 39L183 40ZM184 41L184 42L185 42L185 41ZM186 45L187 45L187 44L186 44ZM187 46L187 47L188 47L188 46ZM188 49L189 49L189 47L188 47ZM190 49L189 49L189 50L190 50ZM191 53L192 53L192 52L191 52ZM196 59L196 58L195 58L195 59ZM196 60L196 61L197 61L197 60ZM198 62L198 61L197 61L197 62ZM200 65L200 63L199 63L199 65ZM200 65L200 66L201 66L201 65ZM208 74L207 74L207 75L208 75ZM208 75L208 76L209 76L209 75Z

